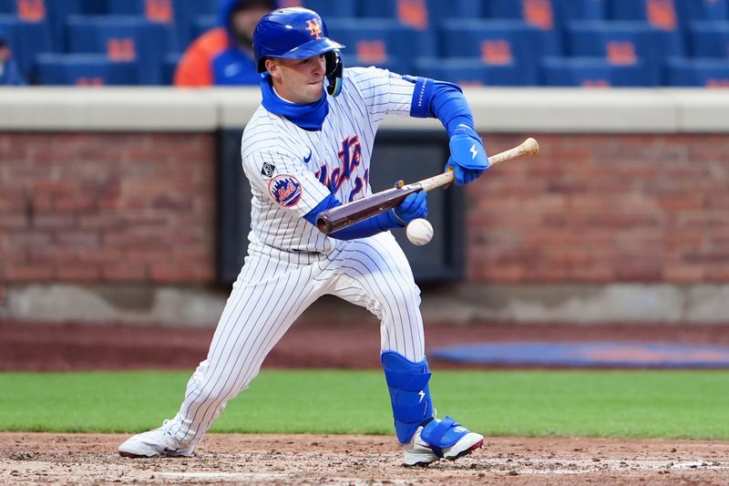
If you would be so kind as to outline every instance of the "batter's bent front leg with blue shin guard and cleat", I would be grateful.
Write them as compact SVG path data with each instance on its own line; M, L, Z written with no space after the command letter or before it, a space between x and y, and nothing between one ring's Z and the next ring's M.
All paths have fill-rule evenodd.
M337 255L334 295L363 305L381 320L382 365L406 465L455 460L483 436L446 417L435 418L425 357L420 291L405 253L390 233L347 244Z

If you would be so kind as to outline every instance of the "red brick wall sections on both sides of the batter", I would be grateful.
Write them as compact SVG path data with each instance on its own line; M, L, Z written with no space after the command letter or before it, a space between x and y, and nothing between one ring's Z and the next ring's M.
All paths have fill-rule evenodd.
M467 188L470 281L729 283L729 137L539 142ZM0 305L33 281L212 282L214 157L212 134L0 134Z

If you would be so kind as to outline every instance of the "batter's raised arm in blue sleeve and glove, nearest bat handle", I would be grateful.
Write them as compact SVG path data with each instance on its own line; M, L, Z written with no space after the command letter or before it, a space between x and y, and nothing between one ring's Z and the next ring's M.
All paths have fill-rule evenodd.
M488 169L483 140L474 128L473 114L457 85L429 78L404 77L415 83L410 116L439 119L450 137L450 158L456 185L476 180Z

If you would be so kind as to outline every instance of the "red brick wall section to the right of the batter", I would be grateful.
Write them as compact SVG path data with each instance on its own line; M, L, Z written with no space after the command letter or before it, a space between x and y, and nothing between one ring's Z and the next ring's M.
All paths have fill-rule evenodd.
M488 150L519 138L488 136ZM540 135L468 187L488 283L729 282L729 136Z

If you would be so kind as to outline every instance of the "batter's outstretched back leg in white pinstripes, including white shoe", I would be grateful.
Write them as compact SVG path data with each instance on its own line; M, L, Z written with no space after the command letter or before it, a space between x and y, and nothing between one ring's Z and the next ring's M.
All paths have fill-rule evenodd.
M248 388L263 359L293 321L318 298L323 265L288 264L249 256L210 343L208 357L188 381L174 419L119 447L122 455L190 455L226 403Z

